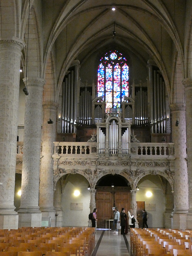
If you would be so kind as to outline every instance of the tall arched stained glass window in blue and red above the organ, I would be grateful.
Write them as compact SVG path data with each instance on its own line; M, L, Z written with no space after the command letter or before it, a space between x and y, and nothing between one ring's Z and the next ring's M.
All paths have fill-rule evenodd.
M100 59L97 96L102 96L106 108L121 108L124 96L129 96L129 66L117 50L106 52Z

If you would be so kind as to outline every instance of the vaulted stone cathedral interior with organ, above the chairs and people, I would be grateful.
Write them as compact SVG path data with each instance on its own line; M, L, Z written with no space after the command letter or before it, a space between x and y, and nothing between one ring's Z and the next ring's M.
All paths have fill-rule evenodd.
M192 2L3 0L0 228L192 228ZM20 192L20 194L18 194Z

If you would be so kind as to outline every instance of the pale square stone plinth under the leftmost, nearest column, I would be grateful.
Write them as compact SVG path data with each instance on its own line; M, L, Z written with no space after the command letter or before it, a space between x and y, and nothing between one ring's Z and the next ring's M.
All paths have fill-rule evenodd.
M0 215L0 229L18 229L18 215Z

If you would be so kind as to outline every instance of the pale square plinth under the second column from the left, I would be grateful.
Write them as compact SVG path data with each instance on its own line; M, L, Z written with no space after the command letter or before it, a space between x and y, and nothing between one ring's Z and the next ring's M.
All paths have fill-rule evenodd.
M18 213L19 224L18 227L41 227L42 213Z

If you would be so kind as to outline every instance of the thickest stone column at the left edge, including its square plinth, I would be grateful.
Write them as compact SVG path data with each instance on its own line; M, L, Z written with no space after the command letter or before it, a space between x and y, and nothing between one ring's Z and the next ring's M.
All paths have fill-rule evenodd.
M0 40L0 229L17 229L14 211L22 42Z

